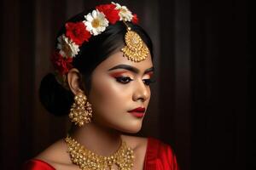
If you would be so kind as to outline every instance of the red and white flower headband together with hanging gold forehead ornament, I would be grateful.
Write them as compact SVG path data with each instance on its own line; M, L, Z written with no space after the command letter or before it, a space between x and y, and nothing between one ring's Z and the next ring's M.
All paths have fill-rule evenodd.
M57 38L57 49L51 56L51 61L55 67L58 77L63 77L73 68L73 58L79 54L79 47L84 42L89 42L91 36L97 36L106 30L109 24L117 21L131 21L137 24L137 14L119 3L102 4L96 6L91 13L84 15L84 20L80 22L67 22L66 33ZM148 56L148 48L143 44L143 40L135 31L127 26L125 33L125 47L121 50L128 59L139 62ZM65 80L62 80L65 81ZM61 81L61 82L62 82Z

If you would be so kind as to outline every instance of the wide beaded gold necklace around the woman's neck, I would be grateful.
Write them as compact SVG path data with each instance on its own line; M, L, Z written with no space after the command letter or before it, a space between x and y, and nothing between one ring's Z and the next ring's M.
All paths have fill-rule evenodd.
M119 150L111 156L99 156L85 149L83 145L68 135L65 141L71 161L82 170L111 170L113 165L119 167L120 170L131 170L133 167L133 150L124 141L122 141Z

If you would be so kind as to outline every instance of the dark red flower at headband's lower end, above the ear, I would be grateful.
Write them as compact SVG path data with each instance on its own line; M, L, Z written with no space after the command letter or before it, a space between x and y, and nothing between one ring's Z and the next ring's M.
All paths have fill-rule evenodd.
M73 58L64 58L57 51L55 51L54 54L51 55L50 60L53 63L55 70L59 71L61 75L66 74L70 69L73 68Z

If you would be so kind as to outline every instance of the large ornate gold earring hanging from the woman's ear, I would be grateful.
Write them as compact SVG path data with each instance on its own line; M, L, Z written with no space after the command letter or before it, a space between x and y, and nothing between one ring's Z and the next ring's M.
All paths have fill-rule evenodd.
M79 127L84 126L84 123L91 122L92 109L91 105L84 94L77 94L74 97L74 103L71 106L69 118L71 122Z

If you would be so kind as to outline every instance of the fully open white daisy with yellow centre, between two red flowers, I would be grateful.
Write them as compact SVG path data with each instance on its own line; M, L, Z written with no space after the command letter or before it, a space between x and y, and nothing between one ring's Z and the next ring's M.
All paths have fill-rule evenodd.
M90 31L90 34L94 36L102 33L102 31L105 31L106 27L108 26L108 20L105 18L105 14L98 11L98 9L84 15L84 18L86 30Z

